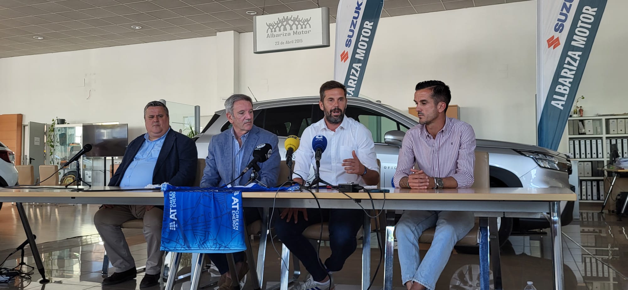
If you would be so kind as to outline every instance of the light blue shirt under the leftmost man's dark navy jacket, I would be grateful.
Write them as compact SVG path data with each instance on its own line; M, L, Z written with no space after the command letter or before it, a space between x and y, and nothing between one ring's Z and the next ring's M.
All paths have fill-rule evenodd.
M170 132L170 129L168 129L168 132ZM148 139L148 133L144 134L144 139L146 140L144 140L142 147L139 148L138 154L135 154L129 167L124 171L120 186L144 187L153 184L155 164L157 164L157 158L168 132L154 141Z

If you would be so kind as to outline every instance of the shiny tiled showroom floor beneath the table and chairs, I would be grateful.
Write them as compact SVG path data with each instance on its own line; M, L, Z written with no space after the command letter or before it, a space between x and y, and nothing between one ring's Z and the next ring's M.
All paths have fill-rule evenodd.
M585 208L586 207L581 207ZM582 212L580 220L574 220L570 225L563 227L563 233L582 244L595 257L610 264L624 275L628 274L628 218L617 222L614 215L602 215L594 208ZM32 281L16 279L7 283L0 283L0 290L133 290L139 289L138 278L115 286L101 286L101 269L104 247L92 224L92 217L97 210L96 206L62 205L56 207L28 205L26 212L29 215L33 232L38 236L38 248L43 257L45 274L51 283L40 284L39 274L32 274ZM146 261L146 244L141 230L125 230L131 251L136 264L142 265ZM4 204L0 211L0 260L3 260L15 247L23 242L25 236L19 222L19 216L9 204ZM374 272L379 262L379 249L376 239L372 239L371 268ZM258 241L254 240L253 247L257 249ZM278 250L280 245L276 244ZM342 271L335 274L334 279L339 290L360 289L361 277L361 249L357 250L347 260ZM425 251L422 251L425 254ZM323 259L329 255L329 248L321 248ZM565 263L565 289L576 290L619 290L628 289L628 281L593 259L590 254L568 240L563 235L563 258ZM189 265L189 257L183 259L183 264ZM519 290L526 286L526 281L534 281L537 289L553 289L551 248L546 235L512 235L502 247L502 279L504 289ZM27 248L26 264L35 266L30 250ZM186 263L187 262L187 263ZM14 267L19 263L19 252L11 256L4 267ZM281 259L269 243L264 263L267 281L278 281ZM382 263L383 264L383 263ZM382 265L383 267L383 265ZM187 269L187 268L186 268ZM303 268L301 268L303 269ZM35 271L37 273L37 270ZM113 272L111 269L110 272ZM185 272L181 269L180 272ZM473 254L453 254L447 267L436 284L436 289L479 289L476 284L479 275L478 256ZM305 274L301 274L304 277ZM201 285L207 284L210 274L203 276ZM379 270L372 289L381 289L382 269ZM175 290L189 289L189 279L183 279L175 284ZM274 284L274 282L269 282ZM394 261L394 286L403 290L399 277L399 263ZM160 287L163 287L161 284ZM158 289L158 287L153 287ZM207 287L206 289L213 289ZM247 283L245 289L250 289Z

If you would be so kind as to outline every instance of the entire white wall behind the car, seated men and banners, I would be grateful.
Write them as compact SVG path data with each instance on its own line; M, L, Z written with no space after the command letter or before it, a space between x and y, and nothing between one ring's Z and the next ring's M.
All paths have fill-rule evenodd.
M628 1L609 0L578 95L587 114L628 110L622 83L628 58ZM317 95L333 78L333 46L252 53L252 33L239 36L240 92L257 100ZM536 1L382 18L360 94L399 109L413 105L414 85L440 79L452 104L479 138L536 143ZM72 122L127 122L143 131L148 100L200 105L202 115L222 109L215 89L221 70L215 36L95 50L0 59L0 114L24 122L58 116ZM222 47L222 46L221 46ZM95 95L82 85L96 73ZM222 91L222 90L221 90ZM221 93L222 94L222 93ZM72 105L75 112L62 113ZM562 151L565 151L561 146Z

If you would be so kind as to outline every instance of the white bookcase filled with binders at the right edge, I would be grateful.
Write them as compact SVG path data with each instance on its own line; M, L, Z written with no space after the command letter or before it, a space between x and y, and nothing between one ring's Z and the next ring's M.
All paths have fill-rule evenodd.
M580 133L578 123L582 124L585 132ZM573 160L578 161L576 192L579 199L583 202L602 203L608 188L604 188L606 172L598 168L611 163L610 144L613 141L620 142L619 156L628 158L628 115L570 117L567 129L569 153ZM594 183L597 183L596 188L593 188ZM591 195L588 195L589 185ZM594 189L597 191L593 191Z

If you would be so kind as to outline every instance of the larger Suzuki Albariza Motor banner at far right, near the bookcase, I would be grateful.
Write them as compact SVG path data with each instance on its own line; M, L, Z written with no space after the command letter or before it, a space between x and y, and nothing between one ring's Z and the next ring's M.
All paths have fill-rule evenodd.
M538 0L538 145L556 150L571 114L606 0Z

